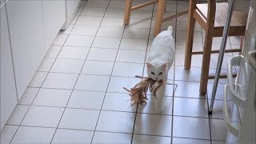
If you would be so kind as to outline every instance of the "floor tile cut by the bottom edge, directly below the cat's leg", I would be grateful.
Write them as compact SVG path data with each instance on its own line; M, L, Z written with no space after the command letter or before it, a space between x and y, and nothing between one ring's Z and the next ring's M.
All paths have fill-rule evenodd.
M138 135L134 134L133 144L147 144L147 143L170 143L170 137L159 137L150 135Z

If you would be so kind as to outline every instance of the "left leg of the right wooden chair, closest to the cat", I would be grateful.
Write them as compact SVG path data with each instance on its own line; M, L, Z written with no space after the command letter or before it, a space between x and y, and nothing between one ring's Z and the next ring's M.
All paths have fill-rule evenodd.
M194 10L196 8L196 1L190 1L190 8L188 14L188 24L186 27L186 52L184 67L186 70L190 70L191 58L192 58L192 47L194 38Z

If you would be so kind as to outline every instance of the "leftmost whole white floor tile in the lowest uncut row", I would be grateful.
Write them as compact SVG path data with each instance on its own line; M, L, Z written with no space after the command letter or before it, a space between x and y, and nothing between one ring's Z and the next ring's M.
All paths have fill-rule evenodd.
M30 106L22 126L57 127L64 108Z

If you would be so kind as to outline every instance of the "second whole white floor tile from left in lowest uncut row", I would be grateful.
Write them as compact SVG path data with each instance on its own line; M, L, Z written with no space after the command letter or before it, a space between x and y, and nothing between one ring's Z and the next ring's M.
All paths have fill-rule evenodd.
M58 128L94 130L99 110L66 108Z

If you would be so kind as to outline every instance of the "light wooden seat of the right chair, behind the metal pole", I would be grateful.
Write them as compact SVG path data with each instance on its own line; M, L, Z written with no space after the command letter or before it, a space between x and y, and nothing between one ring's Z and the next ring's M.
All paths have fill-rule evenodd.
M226 14L228 13L227 2L216 3L216 13L214 18L214 37L222 37L222 32L226 22ZM194 11L195 19L202 26L203 30L206 30L206 19L207 19L208 4L197 4L196 10ZM244 35L246 30L246 16L239 11L234 11L230 22L230 36Z

